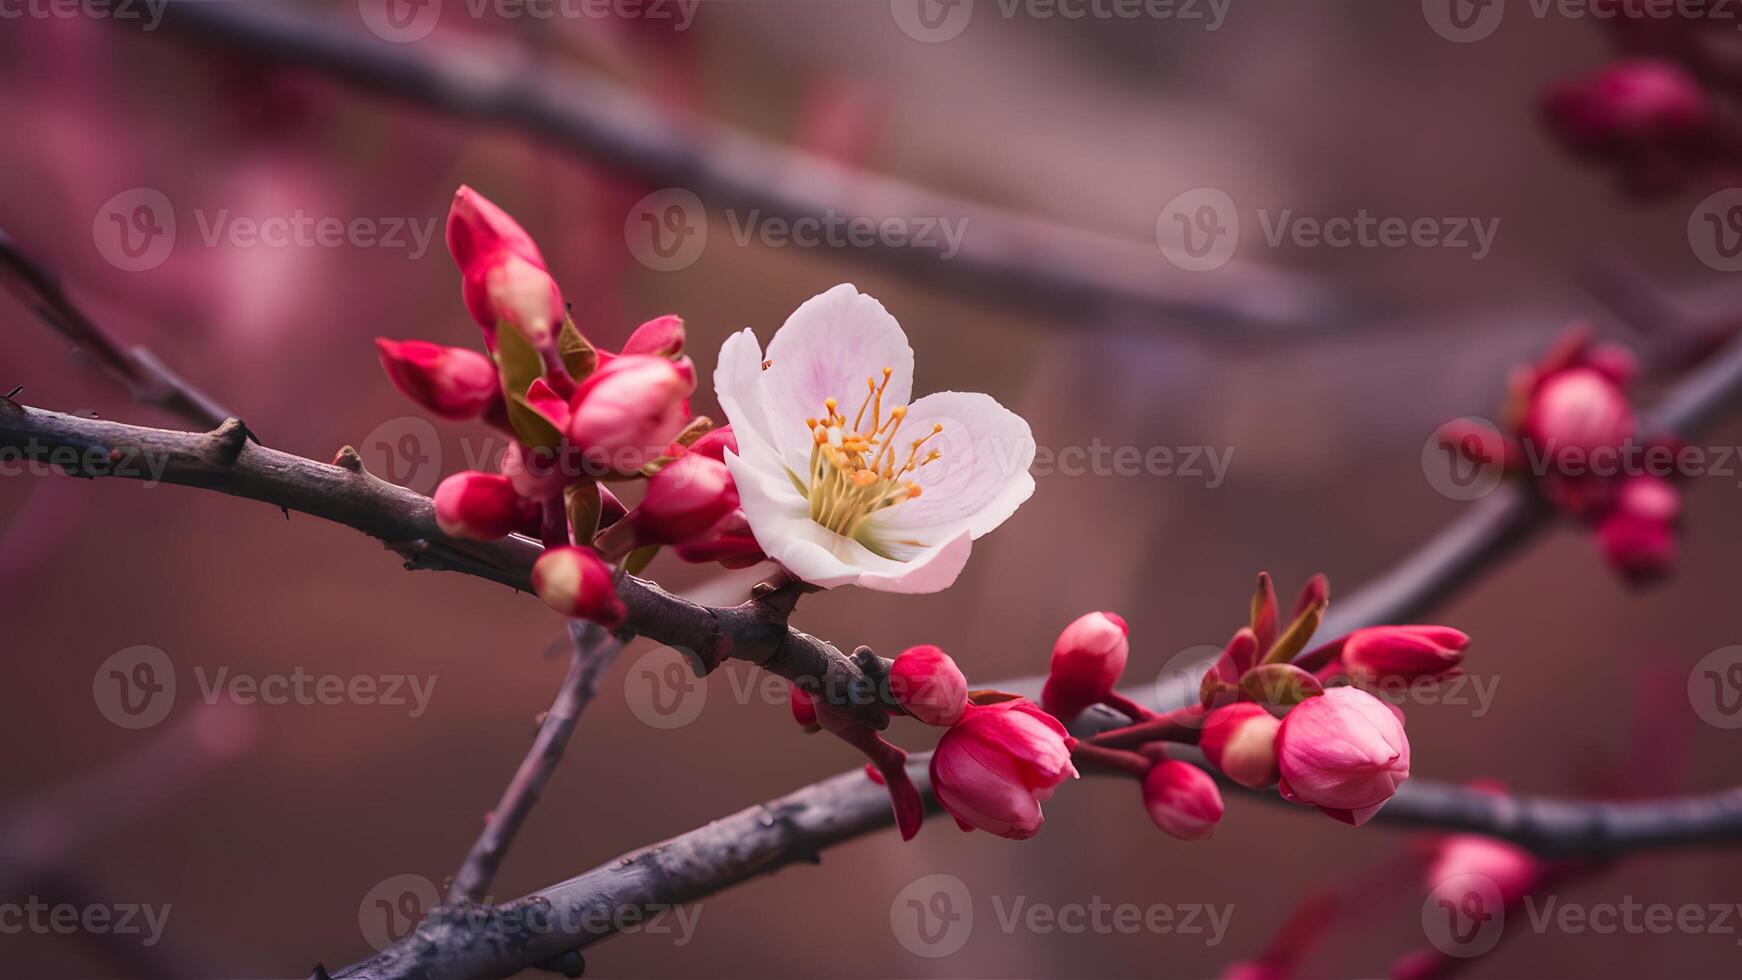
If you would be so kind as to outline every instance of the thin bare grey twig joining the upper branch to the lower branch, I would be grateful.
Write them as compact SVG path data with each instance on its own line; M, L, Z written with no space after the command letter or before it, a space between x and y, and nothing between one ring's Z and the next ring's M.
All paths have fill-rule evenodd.
M570 623L570 644L573 654L568 663L568 675L557 689L556 701L545 712L538 726L533 747L521 761L509 787L502 790L502 801L490 811L484 832L472 844L472 853L465 856L460 872L448 889L449 902L483 902L490 891L490 883L502 867L502 858L514 842L521 823L531 813L533 804L550 782L550 773L563 761L563 750L575 733L575 722L585 710L592 696L599 693L599 677L610 668L611 660L624 649L624 641L617 639L594 623Z

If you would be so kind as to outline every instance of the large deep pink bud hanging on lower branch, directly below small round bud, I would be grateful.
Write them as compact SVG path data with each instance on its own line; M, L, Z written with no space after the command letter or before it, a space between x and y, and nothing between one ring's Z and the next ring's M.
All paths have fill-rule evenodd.
M932 754L932 792L963 830L1026 841L1043 822L1040 804L1077 778L1075 743L1033 701L969 705Z

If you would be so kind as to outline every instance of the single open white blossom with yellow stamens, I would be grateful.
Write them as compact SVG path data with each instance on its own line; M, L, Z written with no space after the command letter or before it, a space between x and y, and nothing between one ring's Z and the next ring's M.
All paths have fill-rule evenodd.
M948 588L1035 493L1028 423L981 393L909 404L908 336L850 284L794 310L766 355L749 329L728 338L714 392L756 543L812 585Z

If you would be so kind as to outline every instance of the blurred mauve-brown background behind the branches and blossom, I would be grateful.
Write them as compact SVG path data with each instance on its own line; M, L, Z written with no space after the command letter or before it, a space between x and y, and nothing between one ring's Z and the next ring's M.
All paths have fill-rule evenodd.
M178 30L176 7L148 28L150 10L127 21L91 3L61 16L19 2L0 19L0 228L57 268L111 334L152 346L265 444L317 460L352 444L373 472L423 493L502 447L483 428L423 421L371 343L477 343L441 240L462 183L526 225L592 339L617 346L641 320L679 313L704 376L728 332L749 326L766 341L805 298L854 282L906 327L918 392L991 392L1030 420L1043 454L1181 453L1171 473L1038 472L1033 500L977 543L946 594L841 590L800 606L794 625L807 632L885 654L934 642L976 682L1042 672L1052 637L1087 609L1131 621L1129 679L1164 677L1172 658L1219 646L1244 621L1259 569L1284 594L1329 573L1334 602L1469 507L1425 475L1439 423L1493 416L1507 369L1575 320L1629 336L1587 289L1594 277L1613 284L1615 268L1636 270L1702 317L1742 299L1690 245L1690 211L1711 186L1637 202L1545 132L1545 85L1613 56L1596 23L1516 5L1491 35L1453 40L1435 30L1432 2L1425 12L1200 0L1171 16L1064 17L1045 3L979 0L967 23L939 21L960 7L927 2L575 3L514 17L500 3L446 0L427 21L416 17L430 5L383 21L373 0L246 7L343 31L364 50L448 59L476 78L580 75L655 110L631 124L728 125L848 176L972 200L972 216L930 214L852 181L817 190L836 195L841 214L967 219L949 258L780 242L744 202L723 209L711 188L672 179L681 167L650 176L625 155L589 157L495 113L456 118L334 80ZM763 178L798 185L779 169ZM665 261L636 230L672 200L648 195L672 188L697 193L709 235ZM1226 195L1240 221L1233 259L1204 272L1181 268L1192 259L1169 251L1164 219L1198 188ZM129 228L141 202L159 209L157 232L157 202L167 202L167 251L120 238L146 230ZM1122 240L1122 256L1146 256L1139 291L1207 299L1043 303L1035 277L963 272L970 251L998 249L998 219L984 218L995 211L1092 233L1096 247ZM1495 235L1488 249L1474 230L1463 247L1266 237L1284 212L1362 211L1482 223ZM350 232L270 245L235 232L293 214L402 232L397 245ZM1057 244L1057 261L1115 268L1070 233L1036 235ZM1056 268L1045 252L1026 259ZM68 357L21 305L0 301L0 388L23 385L23 402L181 426ZM699 395L697 411L716 409ZM1707 442L1739 440L1732 423ZM1186 472L1188 449L1230 463L1221 477L1207 463ZM1627 590L1589 536L1563 524L1437 609L1432 621L1475 637L1467 670L1493 696L1411 707L1415 775L1561 795L1737 783L1737 733L1705 724L1686 682L1702 656L1742 642L1730 552L1739 493L1737 477L1686 486L1683 560L1662 588ZM455 870L566 667L563 623L530 597L401 571L380 543L312 517L200 491L12 477L0 480L0 733L12 745L0 792L17 837L5 844L17 867L0 874L16 895L3 900L51 896L45 874L82 883L82 903L169 907L148 949L78 931L0 935L12 975L301 977L315 961L361 959L408 928L395 916L416 905L397 895L418 893L418 881L441 888ZM714 602L756 580L669 559L653 576ZM178 681L169 717L146 729L113 724L94 696L105 661L136 646L164 651ZM660 656L641 641L606 677L498 896L859 764L843 743L794 731L782 689L763 696L742 665L706 682L693 719L650 724L660 721L646 708L660 696L648 693ZM432 686L425 710L223 712L193 740L221 764L153 806L143 804L164 787L152 778L127 799L84 799L80 811L99 822L108 808L143 813L56 851L59 820L33 822L33 801L82 775L125 771L200 712L200 682L219 670ZM918 726L897 731L913 750L927 738ZM1212 977L1256 956L1312 889L1347 881L1367 883L1362 900L1305 971L1374 975L1421 945L1421 888L1404 860L1416 846L1395 829L1352 830L1249 797L1230 797L1214 841L1183 844L1151 827L1136 787L1085 780L1047 804L1035 841L965 836L946 818L909 844L881 832L831 849L820 867L707 898L692 935L613 938L589 950L589 975ZM38 863L52 874L17 870ZM1401 870L1374 877L1385 867ZM927 874L958 877L974 898L974 933L951 956L915 956L890 928L892 902ZM1733 903L1739 881L1742 855L1653 853L1559 896ZM387 893L390 910L376 903ZM1219 936L1005 930L998 910L1017 900L1211 903L1232 917ZM1521 928L1470 973L1735 977L1739 966L1735 935Z

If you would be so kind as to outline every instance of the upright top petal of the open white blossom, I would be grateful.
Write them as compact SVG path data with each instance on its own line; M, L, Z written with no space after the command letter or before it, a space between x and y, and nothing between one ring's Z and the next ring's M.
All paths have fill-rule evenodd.
M883 411L908 404L913 395L913 348L895 317L876 299L841 284L812 296L768 341L768 371L761 376L763 409L773 442L805 468L810 460L807 418L824 413L822 400L836 399L840 413L854 421L866 397L866 378L883 381Z

